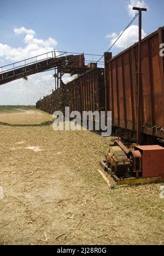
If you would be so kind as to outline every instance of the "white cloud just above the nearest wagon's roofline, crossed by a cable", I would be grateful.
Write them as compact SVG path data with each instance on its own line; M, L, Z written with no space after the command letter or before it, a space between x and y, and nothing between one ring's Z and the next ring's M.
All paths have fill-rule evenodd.
M122 31L120 32L120 34ZM115 40L120 36L120 34L112 33L107 34L107 38L110 38L110 46L115 42ZM147 36L147 34L142 30L142 38ZM138 26L131 25L127 30L122 34L118 42L114 45L115 48L127 48L134 43L138 42Z

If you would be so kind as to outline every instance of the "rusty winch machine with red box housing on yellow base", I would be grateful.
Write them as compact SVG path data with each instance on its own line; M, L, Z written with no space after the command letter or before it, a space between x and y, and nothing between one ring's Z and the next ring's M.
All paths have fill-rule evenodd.
M145 184L164 181L164 148L124 145L116 140L107 159L100 164L120 184Z

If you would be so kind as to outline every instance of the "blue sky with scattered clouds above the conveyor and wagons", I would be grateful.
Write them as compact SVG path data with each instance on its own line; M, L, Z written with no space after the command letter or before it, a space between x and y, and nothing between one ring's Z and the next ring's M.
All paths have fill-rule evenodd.
M55 47L60 51L103 54L132 19L130 4L136 2L149 9L143 14L143 36L164 26L162 0L1 0L0 66L24 59L22 56L31 57L34 50L30 53L30 46L34 43L39 53ZM138 25L138 19L133 25ZM35 34L31 37L28 32L14 32L14 28L21 27ZM113 48L113 55L136 42L136 38L137 27L133 26ZM0 104L34 104L53 86L50 72L31 76L28 82L11 82L1 86Z

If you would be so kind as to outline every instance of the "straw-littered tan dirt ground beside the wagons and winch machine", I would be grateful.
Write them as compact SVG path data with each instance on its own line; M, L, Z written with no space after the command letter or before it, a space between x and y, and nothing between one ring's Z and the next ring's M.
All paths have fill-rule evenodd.
M35 109L0 113L1 245L164 244L162 184L109 190L98 173L112 137L54 131Z

